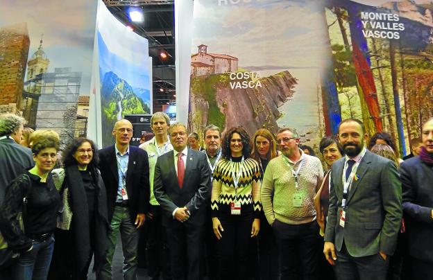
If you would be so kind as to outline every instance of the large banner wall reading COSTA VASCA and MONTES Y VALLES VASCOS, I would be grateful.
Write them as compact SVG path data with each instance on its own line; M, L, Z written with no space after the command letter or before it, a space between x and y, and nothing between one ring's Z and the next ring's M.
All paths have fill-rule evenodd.
M432 12L430 0L195 0L189 129L291 127L317 150L353 117L406 155L433 116Z

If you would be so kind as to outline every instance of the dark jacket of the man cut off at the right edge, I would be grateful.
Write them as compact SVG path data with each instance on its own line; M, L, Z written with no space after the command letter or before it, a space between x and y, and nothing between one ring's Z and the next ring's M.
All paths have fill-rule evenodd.
M402 162L400 173L409 254L433 263L433 167L412 157Z

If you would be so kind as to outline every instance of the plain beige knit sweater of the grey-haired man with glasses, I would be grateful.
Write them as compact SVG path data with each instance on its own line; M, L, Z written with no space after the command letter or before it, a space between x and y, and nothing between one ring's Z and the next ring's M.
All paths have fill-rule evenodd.
M294 164L290 159L285 161L285 155L280 155L269 161L264 173L261 200L264 215L269 224L275 218L290 225L300 225L316 219L314 210L314 195L319 190L323 180L323 168L320 159L301 152L300 160ZM287 166L298 170L299 189L296 190L294 175ZM302 207L294 206L294 194L302 195Z

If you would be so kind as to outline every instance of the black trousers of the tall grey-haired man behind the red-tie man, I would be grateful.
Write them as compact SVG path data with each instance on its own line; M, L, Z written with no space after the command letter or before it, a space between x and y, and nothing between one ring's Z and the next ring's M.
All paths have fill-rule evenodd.
M147 273L149 279L159 279L162 273L164 279L171 279L170 272L170 251L167 241L167 232L162 227L161 207L151 205L149 212L153 218L147 219L147 243L146 243L146 260Z

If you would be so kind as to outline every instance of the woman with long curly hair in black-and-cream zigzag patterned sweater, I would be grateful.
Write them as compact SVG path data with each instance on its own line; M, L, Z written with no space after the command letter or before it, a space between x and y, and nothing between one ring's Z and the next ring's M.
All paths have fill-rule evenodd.
M211 196L219 276L246 279L249 238L260 230L260 168L250 157L251 139L244 128L231 128L221 148L223 157L214 170Z

